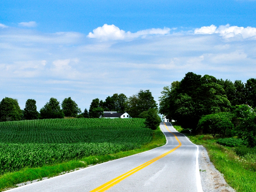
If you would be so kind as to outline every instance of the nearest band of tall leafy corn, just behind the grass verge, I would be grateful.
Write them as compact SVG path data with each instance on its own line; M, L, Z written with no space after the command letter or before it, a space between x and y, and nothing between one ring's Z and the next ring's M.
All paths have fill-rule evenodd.
M83 156L113 154L140 147L134 143L0 143L0 173L60 163Z

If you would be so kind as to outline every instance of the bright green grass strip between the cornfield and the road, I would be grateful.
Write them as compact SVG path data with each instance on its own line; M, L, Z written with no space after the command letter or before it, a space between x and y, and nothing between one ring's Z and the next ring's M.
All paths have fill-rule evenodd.
M119 159L126 156L131 156L137 153L148 151L150 149L161 147L165 145L166 138L164 133L158 127L153 131L152 140L143 145L139 149L129 151L121 151L115 154L101 155L101 156L88 156L77 160L67 161L55 165L48 165L38 168L24 168L17 172L8 172L0 176L0 191L7 190L8 188L17 187L16 184L41 179L44 177L53 177L60 175L62 172L69 172L81 167L88 167L90 165L100 164L114 159Z

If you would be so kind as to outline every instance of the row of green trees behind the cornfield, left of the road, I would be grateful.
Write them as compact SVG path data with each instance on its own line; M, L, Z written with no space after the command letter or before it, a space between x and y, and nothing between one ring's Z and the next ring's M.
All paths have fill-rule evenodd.
M161 119L158 116L158 108L152 93L149 90L140 90L137 94L127 98L123 93L108 96L104 101L93 99L89 111L81 109L71 97L65 98L62 103L51 98L43 108L37 111L36 100L28 99L24 110L20 109L17 99L5 97L0 102L0 121L19 121L31 119L54 119L66 117L99 118L103 111L117 111L129 113L132 118L148 119L148 127L155 129ZM152 116L154 119L152 119ZM150 123L153 125L150 125ZM156 126L156 124L158 124Z

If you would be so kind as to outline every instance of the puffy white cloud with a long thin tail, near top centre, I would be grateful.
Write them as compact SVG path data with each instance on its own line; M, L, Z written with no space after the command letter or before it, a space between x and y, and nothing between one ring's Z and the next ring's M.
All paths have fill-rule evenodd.
M170 33L170 28L152 28L146 30L140 30L136 33L130 31L125 32L122 29L119 29L115 25L104 24L102 27L93 29L93 32L90 32L87 37L96 38L100 40L123 40L123 39L134 39L140 36L147 35L166 35Z

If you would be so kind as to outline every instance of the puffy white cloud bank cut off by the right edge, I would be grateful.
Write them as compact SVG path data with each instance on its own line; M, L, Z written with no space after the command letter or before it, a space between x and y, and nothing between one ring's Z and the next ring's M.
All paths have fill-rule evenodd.
M230 38L230 37L236 37L236 36L242 36L244 39L252 36L256 36L256 28L253 27L237 27L237 26L230 26L227 25L220 25L219 28L217 28L215 25L211 25L208 27L201 27L196 28L194 30L194 34L213 34L217 33L220 34L220 36L223 36L224 38Z

